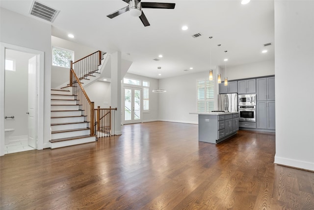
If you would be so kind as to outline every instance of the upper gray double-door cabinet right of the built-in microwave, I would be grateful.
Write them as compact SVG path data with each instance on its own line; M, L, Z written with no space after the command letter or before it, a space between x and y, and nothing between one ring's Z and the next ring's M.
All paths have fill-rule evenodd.
M256 79L257 101L275 100L275 77Z

